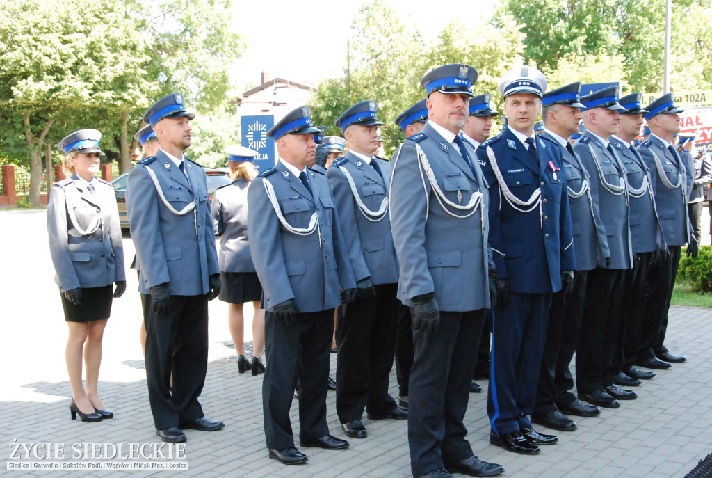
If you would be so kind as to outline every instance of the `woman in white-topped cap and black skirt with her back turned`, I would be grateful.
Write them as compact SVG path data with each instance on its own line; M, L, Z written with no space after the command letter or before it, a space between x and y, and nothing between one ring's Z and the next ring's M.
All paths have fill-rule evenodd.
M260 360L265 344L265 311L260 308L262 286L252 264L247 234L247 187L256 177L252 164L257 152L244 146L225 148L230 168L229 185L215 191L211 207L215 235L221 236L218 261L222 287L218 298L228 303L230 335L237 350L239 373L252 369L252 375L263 373ZM252 302L252 364L245 358L243 305Z

